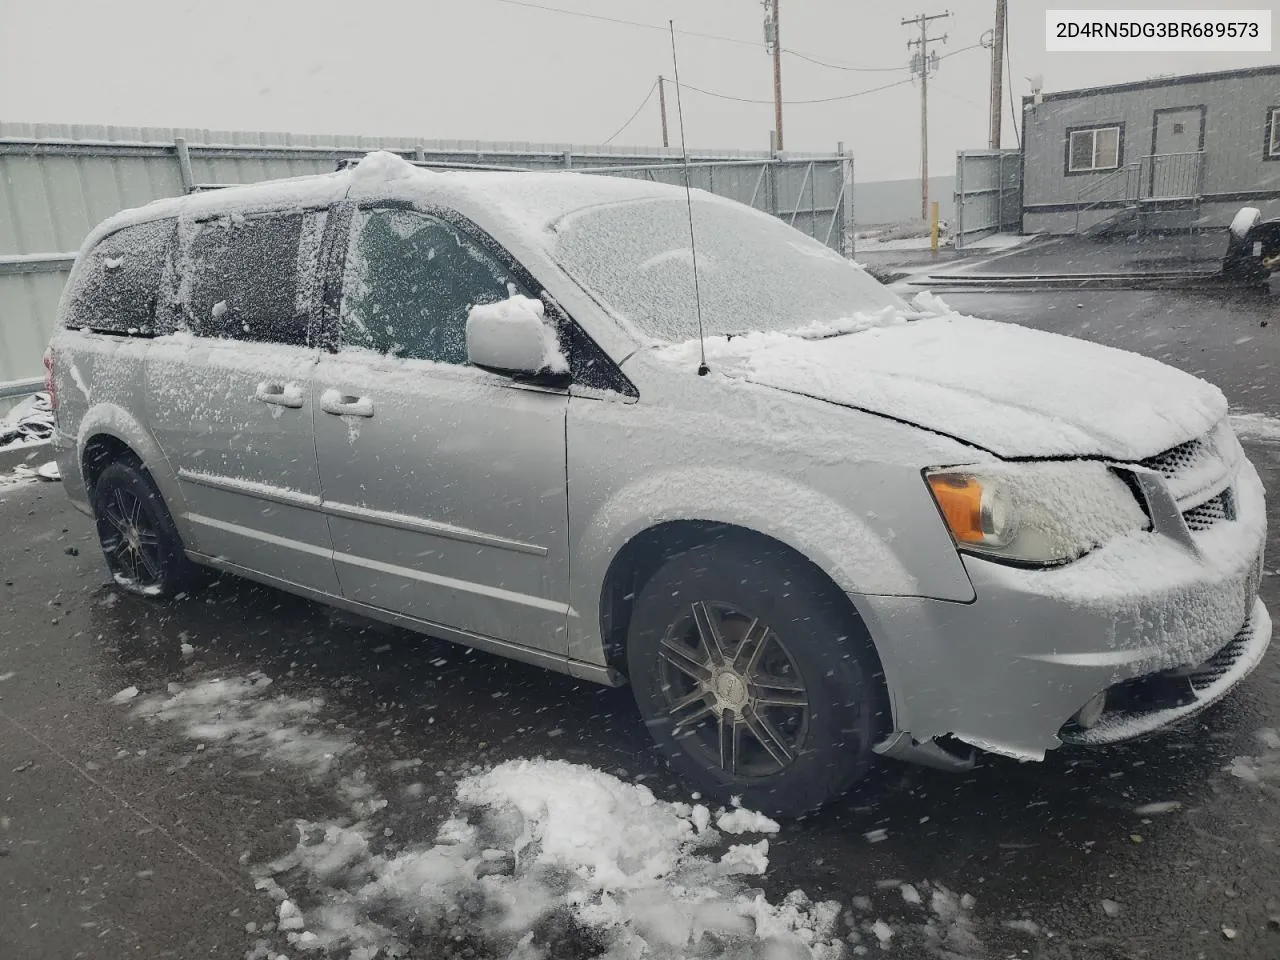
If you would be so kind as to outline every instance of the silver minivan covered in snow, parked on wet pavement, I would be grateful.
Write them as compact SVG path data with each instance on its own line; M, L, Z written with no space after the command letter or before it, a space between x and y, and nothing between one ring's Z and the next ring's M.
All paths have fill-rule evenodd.
M111 218L47 365L115 580L204 564L630 682L696 788L774 814L877 754L1139 736L1258 664L1216 388L689 204L372 154Z

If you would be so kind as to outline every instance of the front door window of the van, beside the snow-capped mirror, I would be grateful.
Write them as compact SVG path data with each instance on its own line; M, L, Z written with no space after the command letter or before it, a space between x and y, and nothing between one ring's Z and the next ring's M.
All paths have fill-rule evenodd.
M342 285L342 342L383 355L466 365L467 312L524 291L456 227L411 210L356 215Z

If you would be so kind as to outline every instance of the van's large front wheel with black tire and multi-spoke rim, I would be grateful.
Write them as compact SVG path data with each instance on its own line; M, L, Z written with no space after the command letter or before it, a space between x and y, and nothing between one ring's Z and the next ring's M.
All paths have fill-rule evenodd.
M698 662L708 623L719 668ZM872 765L879 658L846 598L782 547L728 536L668 559L636 598L627 667L659 753L718 803L799 817Z

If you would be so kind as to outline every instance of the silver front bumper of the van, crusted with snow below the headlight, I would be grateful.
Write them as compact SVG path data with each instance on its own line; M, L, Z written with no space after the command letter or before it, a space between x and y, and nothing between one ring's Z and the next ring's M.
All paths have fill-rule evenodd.
M890 690L895 736L883 749L909 755L906 735L916 746L950 736L1038 760L1062 742L1143 736L1224 696L1271 640L1257 599L1266 504L1248 461L1234 495L1233 520L1180 536L1133 535L1065 567L965 557L973 603L854 596ZM1192 675L1203 681L1193 695L1143 703L1108 694L1094 726L1073 724L1117 685L1128 694L1139 678Z

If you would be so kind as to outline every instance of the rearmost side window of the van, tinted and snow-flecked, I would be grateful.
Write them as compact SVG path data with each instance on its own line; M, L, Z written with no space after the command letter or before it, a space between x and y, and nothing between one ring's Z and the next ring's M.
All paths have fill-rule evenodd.
M173 239L173 220L116 230L81 265L65 324L102 333L155 333L160 273Z

